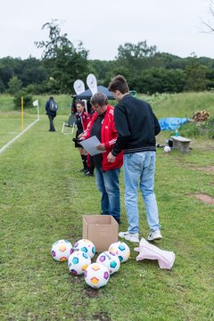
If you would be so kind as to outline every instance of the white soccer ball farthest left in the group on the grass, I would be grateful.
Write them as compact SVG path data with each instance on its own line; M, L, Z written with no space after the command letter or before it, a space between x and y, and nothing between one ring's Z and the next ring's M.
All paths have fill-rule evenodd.
M68 240L59 240L53 243L51 254L53 259L57 261L65 261L69 259L72 252L72 245Z

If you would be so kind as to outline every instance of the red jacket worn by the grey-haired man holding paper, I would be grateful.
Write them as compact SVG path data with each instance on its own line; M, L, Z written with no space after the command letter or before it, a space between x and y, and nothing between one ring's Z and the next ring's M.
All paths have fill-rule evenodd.
M92 115L92 119L88 124L83 137L86 139L90 137L91 128L94 125L95 119L99 114L95 111ZM109 162L107 160L107 156L109 152L111 152L116 140L118 137L118 132L114 125L114 108L111 105L107 106L107 110L104 115L103 124L101 128L101 143L104 144L106 152L102 153L103 161L102 161L102 169L119 169L123 164L123 152L119 152L116 160L114 162Z

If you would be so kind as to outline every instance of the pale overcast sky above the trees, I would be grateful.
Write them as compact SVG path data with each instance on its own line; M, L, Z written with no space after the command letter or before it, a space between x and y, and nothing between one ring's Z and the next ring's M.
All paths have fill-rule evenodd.
M147 41L159 52L214 58L210 0L1 0L0 58L40 58L35 41L48 40L45 22L54 19L74 44L81 40L89 59L113 60L119 45Z

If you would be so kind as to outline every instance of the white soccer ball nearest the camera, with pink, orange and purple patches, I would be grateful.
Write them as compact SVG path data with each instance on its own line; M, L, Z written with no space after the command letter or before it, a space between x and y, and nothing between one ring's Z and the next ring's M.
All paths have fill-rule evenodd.
M84 277L86 284L94 289L99 289L101 286L104 286L108 283L110 273L108 268L103 266L103 264L92 263L86 268Z

